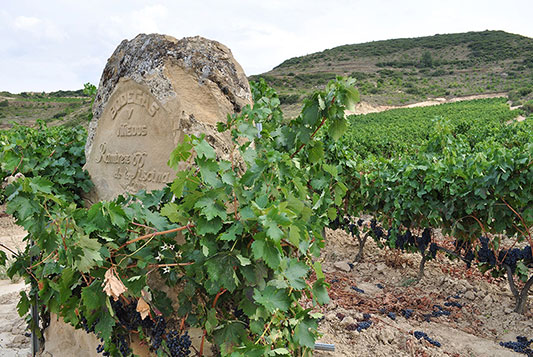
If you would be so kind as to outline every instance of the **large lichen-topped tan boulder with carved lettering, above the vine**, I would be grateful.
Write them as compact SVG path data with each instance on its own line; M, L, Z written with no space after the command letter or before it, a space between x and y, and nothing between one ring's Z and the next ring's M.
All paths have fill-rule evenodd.
M96 187L89 200L172 181L166 163L185 134L206 134L224 157L230 138L216 123L246 104L246 75L219 42L158 34L123 41L107 62L93 106L85 167Z

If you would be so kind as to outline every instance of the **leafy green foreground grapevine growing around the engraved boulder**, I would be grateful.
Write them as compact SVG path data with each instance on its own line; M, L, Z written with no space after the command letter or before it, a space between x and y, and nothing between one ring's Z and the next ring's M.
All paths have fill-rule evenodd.
M62 176L28 169L5 190L7 212L28 231L26 250L8 269L34 286L30 297L23 293L19 313L38 294L45 312L94 332L113 356L132 353L121 342L131 326L117 312L126 301L145 307L147 324L162 314L201 328L222 355L310 354L319 315L302 301L329 301L315 258L347 191L316 139L321 131L332 140L342 135L344 111L358 100L352 85L332 81L293 120L283 118L264 82L252 86L255 105L218 125L232 136L230 158L218 157L205 138L188 136L169 165L185 161L189 169L160 191L86 208L74 194L61 194ZM85 175L74 168L73 175ZM184 244L176 242L178 231ZM153 288L154 275L179 287L177 296ZM171 353L170 341L157 342L153 327L138 324L158 355Z

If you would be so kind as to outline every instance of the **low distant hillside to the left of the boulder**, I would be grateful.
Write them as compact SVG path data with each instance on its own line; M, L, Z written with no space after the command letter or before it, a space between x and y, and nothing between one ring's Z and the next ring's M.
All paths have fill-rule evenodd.
M0 92L0 129L11 123L33 124L37 119L48 124L87 124L91 117L91 99L83 90L51 93L13 94Z

